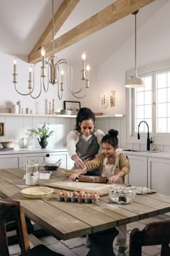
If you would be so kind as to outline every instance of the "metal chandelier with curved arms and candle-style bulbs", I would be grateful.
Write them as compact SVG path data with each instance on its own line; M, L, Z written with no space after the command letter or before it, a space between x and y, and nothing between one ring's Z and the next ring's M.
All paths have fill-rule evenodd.
M52 0L52 14L53 14L53 0ZM53 14L53 55L48 58L48 60L45 60L45 48L42 46L41 48L41 72L40 72L40 93L38 93L37 96L32 95L32 93L35 90L35 66L37 63L40 63L40 61L37 61L37 63L32 67L29 68L29 80L28 80L28 93L20 93L19 90L17 90L17 60L14 59L14 73L13 73L13 83L14 88L20 95L30 95L32 98L36 99L38 98L42 93L42 88L44 89L45 93L48 92L49 89L49 83L52 85L57 84L58 85L58 98L61 100L63 98L63 90L64 90L64 72L67 72L67 82L68 82L68 90L71 92L71 94L76 98L84 98L86 96L87 90L85 90L84 95L78 95L81 93L81 91L86 88L89 88L89 64L86 66L86 54L82 54L82 60L83 60L83 67L81 69L81 80L82 80L82 86L79 88L79 90L73 90L73 69L71 67L71 64L68 63L66 59L59 59L57 60L57 57L54 54L54 14ZM48 70L48 76L47 76L47 85L45 85L45 69ZM64 69L64 70L63 70ZM33 78L32 78L33 74Z

